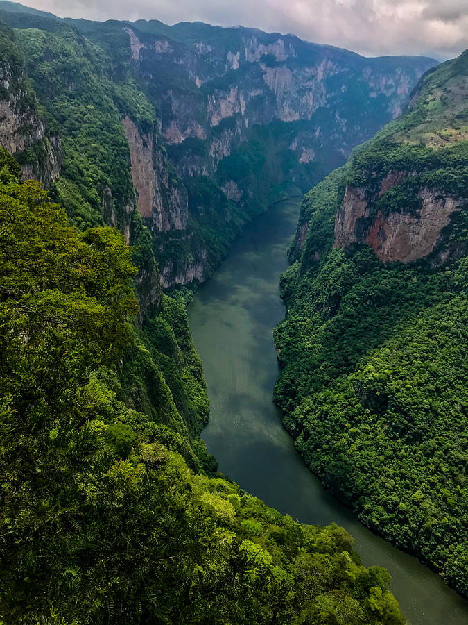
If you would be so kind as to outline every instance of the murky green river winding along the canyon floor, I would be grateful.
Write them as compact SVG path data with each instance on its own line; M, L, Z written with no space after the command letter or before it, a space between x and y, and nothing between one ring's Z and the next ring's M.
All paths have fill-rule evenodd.
M211 417L202 433L219 470L300 522L343 526L366 566L392 576L391 590L413 625L468 623L468 601L442 578L367 530L331 497L299 456L272 403L278 374L272 331L284 317L279 276L299 200L281 202L245 226L229 256L191 302L189 325L202 358Z

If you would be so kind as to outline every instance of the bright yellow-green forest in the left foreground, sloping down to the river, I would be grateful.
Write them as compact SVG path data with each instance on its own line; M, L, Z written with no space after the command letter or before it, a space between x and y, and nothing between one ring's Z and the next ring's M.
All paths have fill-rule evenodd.
M404 623L343 529L214 474L182 303L138 328L123 235L0 158L2 622Z

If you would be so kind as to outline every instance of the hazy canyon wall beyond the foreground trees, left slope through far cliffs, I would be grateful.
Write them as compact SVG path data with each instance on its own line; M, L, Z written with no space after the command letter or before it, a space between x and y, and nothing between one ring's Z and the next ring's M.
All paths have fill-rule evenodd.
M59 19L6 2L0 19L26 58L46 139L60 147L55 199L75 223L115 223L128 240L137 208L165 287L205 280L242 224L343 164L435 64L250 28Z

